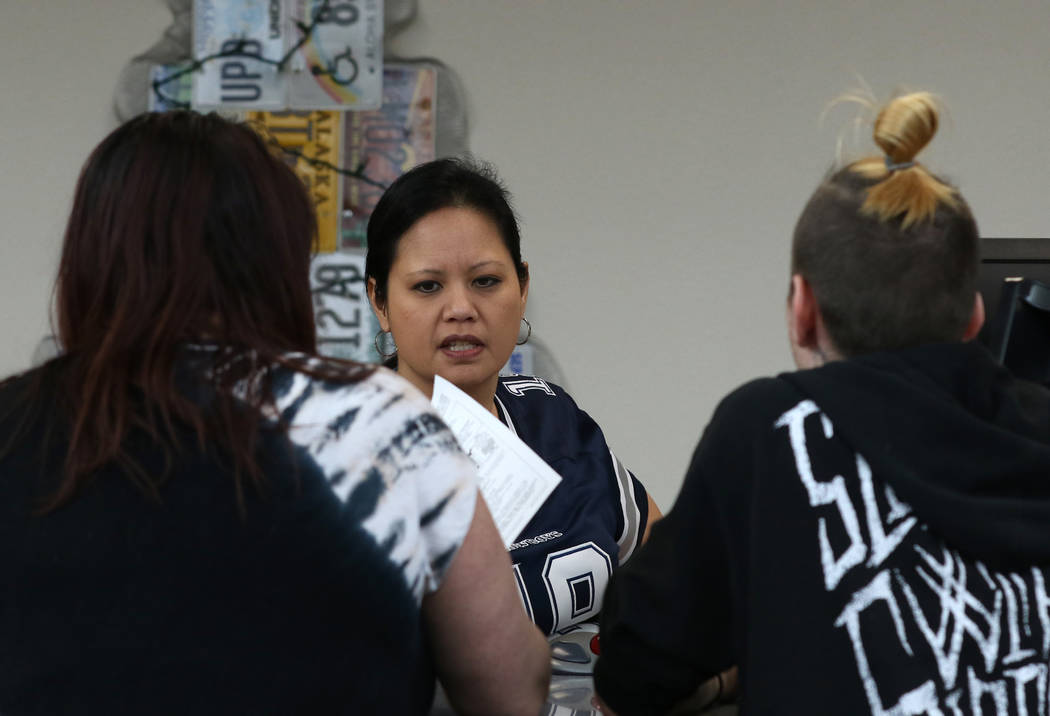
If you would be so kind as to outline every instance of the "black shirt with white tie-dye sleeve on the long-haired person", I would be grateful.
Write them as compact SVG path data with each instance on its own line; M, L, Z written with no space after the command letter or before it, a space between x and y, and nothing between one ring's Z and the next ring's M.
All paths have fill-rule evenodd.
M181 360L190 380L212 350ZM0 384L0 435L20 435L0 455L0 713L428 712L421 603L477 486L417 389L386 370L339 383L276 368L292 444L260 431L260 489L238 501L228 455L176 425L175 454L128 439L167 473L154 496L114 462L41 515L67 451L41 409L66 399L61 371ZM35 406L7 409L33 385Z

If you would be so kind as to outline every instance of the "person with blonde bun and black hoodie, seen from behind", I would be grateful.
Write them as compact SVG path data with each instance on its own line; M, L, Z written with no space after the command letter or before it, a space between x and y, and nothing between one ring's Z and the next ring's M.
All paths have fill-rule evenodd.
M606 713L695 706L734 665L743 713L1046 713L1050 393L971 340L976 224L918 160L938 122L895 98L802 210L799 370L722 400L613 575Z

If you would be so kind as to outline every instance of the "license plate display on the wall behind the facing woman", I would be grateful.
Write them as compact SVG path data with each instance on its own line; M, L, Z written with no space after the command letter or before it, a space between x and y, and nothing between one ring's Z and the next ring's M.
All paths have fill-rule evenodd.
M125 68L119 115L214 109L279 148L317 210L318 348L377 360L363 277L369 217L405 171L466 148L455 73L437 61L383 60L384 25L411 22L416 0L167 2L173 23Z

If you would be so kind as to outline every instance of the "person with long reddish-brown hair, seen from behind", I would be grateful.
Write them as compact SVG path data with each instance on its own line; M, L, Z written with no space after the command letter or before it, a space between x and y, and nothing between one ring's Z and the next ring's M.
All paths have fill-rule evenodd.
M385 368L317 355L304 187L250 127L91 153L64 349L0 384L0 711L537 713L472 464Z

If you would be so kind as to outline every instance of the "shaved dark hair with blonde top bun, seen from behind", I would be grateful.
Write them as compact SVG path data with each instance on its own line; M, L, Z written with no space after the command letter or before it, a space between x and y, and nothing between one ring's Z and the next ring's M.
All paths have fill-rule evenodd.
M959 340L976 291L978 229L916 156L937 132L928 92L897 97L874 128L882 155L834 171L799 217L792 273L813 287L845 356Z

